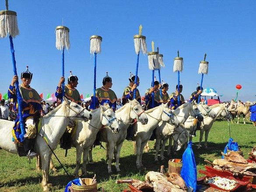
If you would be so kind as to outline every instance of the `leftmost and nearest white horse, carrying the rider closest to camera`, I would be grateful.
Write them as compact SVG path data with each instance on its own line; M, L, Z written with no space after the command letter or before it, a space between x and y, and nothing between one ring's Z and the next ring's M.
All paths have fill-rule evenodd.
M91 112L88 112L74 102L68 101L64 97L61 105L42 117L42 126L36 137L35 151L40 154L42 160L42 188L44 191L49 191L49 164L52 151L42 136L46 138L52 150L55 150L70 119L88 120L91 117ZM11 131L13 126L14 122L0 120L0 147L10 153L18 154L16 146L12 141Z

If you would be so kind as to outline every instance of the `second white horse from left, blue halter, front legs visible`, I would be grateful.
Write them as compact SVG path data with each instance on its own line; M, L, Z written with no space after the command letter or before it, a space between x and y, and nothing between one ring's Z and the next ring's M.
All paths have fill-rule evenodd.
M100 105L99 108L93 110L92 119L88 122L77 122L77 130L72 137L74 146L76 147L77 161L74 175L78 177L78 171L81 164L81 155L83 152L82 175L86 175L86 162L88 153L93 145L98 131L104 130L109 133L116 134L120 130L116 115L108 104ZM104 128L102 128L104 126Z

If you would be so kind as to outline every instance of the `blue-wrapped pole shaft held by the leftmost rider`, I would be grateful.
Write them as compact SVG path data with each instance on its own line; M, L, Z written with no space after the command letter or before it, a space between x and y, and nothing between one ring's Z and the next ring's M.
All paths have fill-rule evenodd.
M10 38L10 47L11 47L11 57L12 57L12 65L13 65L13 72L14 75L18 75L17 74L17 68L16 68L16 60L15 60L15 55L14 55L14 45L13 45L13 41L12 41L12 37L11 35L9 35ZM19 89L19 81L15 82L15 89L16 89L16 95L17 95L17 101L18 101L18 113L19 113L19 119L20 119L20 125L21 125L21 134L19 136L19 139L21 140L21 142L24 141L24 135L26 133L25 131L25 125L24 125L24 120L22 118L22 107L21 107L21 101L23 100L21 97L21 92Z

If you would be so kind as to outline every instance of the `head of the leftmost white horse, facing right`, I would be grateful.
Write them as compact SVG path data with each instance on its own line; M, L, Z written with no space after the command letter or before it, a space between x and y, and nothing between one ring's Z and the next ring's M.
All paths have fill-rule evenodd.
M70 119L83 119L84 121L88 121L91 119L91 112L87 111L81 105L73 101L69 101L66 97L63 97L63 103L65 108L67 109L67 116Z

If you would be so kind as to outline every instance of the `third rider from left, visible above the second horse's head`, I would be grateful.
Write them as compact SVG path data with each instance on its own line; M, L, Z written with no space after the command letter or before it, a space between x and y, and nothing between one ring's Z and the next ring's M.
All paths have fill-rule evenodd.
M115 92L110 89L112 87L112 78L109 77L108 72L106 74L106 77L104 77L102 80L102 85L102 87L96 89L95 106L96 108L98 108L99 105L104 105L105 103L108 103L109 107L112 108L115 112L117 97ZM90 108L93 109L93 106L94 100L92 98Z

